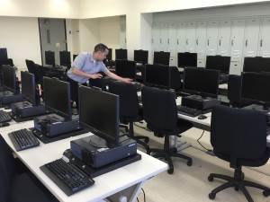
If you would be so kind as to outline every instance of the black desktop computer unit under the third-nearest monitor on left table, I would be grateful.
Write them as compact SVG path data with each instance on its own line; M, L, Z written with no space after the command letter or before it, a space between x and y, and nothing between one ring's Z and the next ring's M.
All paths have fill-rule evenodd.
M40 104L33 106L29 101L21 101L11 104L11 117L16 122L34 119L37 116L48 114L45 106Z

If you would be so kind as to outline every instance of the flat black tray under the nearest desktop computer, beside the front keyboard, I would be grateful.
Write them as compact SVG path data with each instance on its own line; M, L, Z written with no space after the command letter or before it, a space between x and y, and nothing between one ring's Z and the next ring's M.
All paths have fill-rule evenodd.
M67 149L64 154L64 157L66 157L69 162L74 163L76 167L81 169L82 171L85 171L87 175L89 175L91 178L95 178L97 176L100 176L106 172L113 171L116 169L121 168L122 166L128 165L132 162L137 162L141 159L140 154L131 155L129 157L126 157L124 159L118 160L116 162L111 162L109 164L103 165L99 168L93 168L85 164L85 162L81 161L80 159L76 158L75 155L71 153L70 149Z

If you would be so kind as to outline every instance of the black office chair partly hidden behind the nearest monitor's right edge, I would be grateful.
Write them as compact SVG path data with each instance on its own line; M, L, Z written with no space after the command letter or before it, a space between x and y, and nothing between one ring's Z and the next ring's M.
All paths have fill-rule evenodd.
M130 125L129 136L144 146L148 151L148 136L134 136L133 122L142 120L142 110L139 109L139 99L136 86L132 83L110 82L109 92L120 96L120 122ZM143 141L141 141L141 139Z

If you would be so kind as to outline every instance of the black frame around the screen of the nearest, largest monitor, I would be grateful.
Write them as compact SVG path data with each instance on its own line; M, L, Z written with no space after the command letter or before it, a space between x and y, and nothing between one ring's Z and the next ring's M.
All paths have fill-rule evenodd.
M85 111L84 107L82 106L82 99L84 97L84 96L82 96L82 93L89 93L89 92L90 93L103 93L103 94L106 94L107 96L114 97L116 114L115 114L115 123L114 123L115 128L114 128L113 136L104 133L103 131L101 131L98 128L94 128L94 127L90 126L89 124L85 123L85 120L82 120L82 118L84 117L84 116L82 116L82 113L87 112L87 111ZM81 127L89 129L89 131L91 133L93 133L94 135L103 138L107 142L107 145L110 145L110 146L120 145L120 133L119 133L119 109L120 109L119 107L120 106L119 106L119 102L120 102L119 95L112 94L110 92L103 92L98 88L90 88L87 86L80 85L79 86L79 122L80 122Z

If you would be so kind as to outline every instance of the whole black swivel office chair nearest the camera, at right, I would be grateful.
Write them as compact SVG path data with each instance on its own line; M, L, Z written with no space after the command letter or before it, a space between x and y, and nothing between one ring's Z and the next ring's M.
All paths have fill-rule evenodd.
M247 187L263 189L264 196L270 195L266 186L244 180L242 166L257 167L266 164L270 149L266 147L266 115L257 110L240 110L225 106L216 106L211 112L211 145L213 153L229 162L234 177L211 173L209 181L214 178L228 182L213 189L209 198L215 198L223 189L234 187L240 189L248 202L253 202Z

